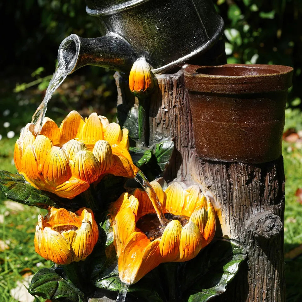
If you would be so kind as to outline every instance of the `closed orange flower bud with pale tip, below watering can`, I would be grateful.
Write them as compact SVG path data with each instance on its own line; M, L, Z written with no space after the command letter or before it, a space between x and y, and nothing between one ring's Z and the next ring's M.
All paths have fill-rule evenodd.
M154 88L151 67L145 58L139 58L133 63L129 74L129 88L136 94L150 92Z

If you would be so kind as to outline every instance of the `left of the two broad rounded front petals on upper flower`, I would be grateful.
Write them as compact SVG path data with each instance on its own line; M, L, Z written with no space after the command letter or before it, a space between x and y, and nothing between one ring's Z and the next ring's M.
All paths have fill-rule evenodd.
M59 147L53 146L45 159L43 176L49 185L56 187L71 177L69 160Z

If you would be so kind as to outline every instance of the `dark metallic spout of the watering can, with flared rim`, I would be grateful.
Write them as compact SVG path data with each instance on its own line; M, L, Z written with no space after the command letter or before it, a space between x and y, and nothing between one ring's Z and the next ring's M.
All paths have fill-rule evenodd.
M85 65L129 72L136 57L131 45L114 33L89 39L72 34L61 42L58 51L59 65L67 74Z

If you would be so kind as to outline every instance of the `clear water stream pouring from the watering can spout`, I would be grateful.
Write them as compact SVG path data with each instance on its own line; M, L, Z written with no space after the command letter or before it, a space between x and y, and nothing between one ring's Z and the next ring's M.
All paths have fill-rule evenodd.
M38 131L40 131L42 127L42 122L45 117L45 113L47 110L47 103L50 100L50 98L53 95L53 92L61 85L61 83L65 80L67 76L67 72L65 71L64 65L58 65L56 68L53 77L51 78L49 85L47 87L45 97L42 101L42 103L37 108L36 112L32 116L31 122L35 124L38 128Z

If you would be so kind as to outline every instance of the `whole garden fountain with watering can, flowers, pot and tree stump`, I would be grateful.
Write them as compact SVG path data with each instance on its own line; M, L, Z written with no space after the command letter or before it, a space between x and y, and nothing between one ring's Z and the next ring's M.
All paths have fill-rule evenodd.
M16 143L16 166L32 186L20 175L5 174L7 184L2 187L8 198L44 208L52 207L45 217L46 222L42 216L39 218L35 239L39 254L53 260L41 243L47 242L47 232L60 238L61 246L68 246L66 259L62 258L59 263L57 261L62 267L38 272L32 279L29 291L42 296L47 293L49 296L46 294L45 297L48 299L64 298L64 291L54 293L51 288L50 281L56 280L62 288L68 289L68 293L73 293L72 298L71 294L65 297L70 301L86 301L92 297L94 285L105 293L108 290L119 291L117 301L124 302L129 284L131 290L136 290L139 295L140 290L147 290L144 280L147 280L145 282L149 288L149 282L160 279L159 275L166 270L167 277L162 278L161 283L167 282L169 290L162 290L164 294L157 290L156 297L160 297L160 301L207 301L213 297L216 297L215 301L232 300L234 297L238 301L282 301L284 267L280 253L283 249L284 175L280 134L292 69L284 66L266 68L266 65L201 66L226 63L224 47L221 48L223 42L219 41L223 20L210 0L167 0L164 3L157 0L87 0L87 5L87 13L100 18L106 34L92 39L73 34L63 40L59 47L58 68L44 100L33 115L34 125L27 126ZM129 73L131 76L133 64L141 58L144 58L142 64L148 64L148 68L142 70L150 70L155 89L145 89L146 92L135 96L129 91L128 77ZM83 120L75 112L66 117L65 124L62 123L60 127L52 124L44 131L46 138L38 135L45 127L43 120L47 103L54 90L66 76L87 64L118 71L115 79L120 125L126 127L129 122L132 125L143 123L145 144L141 143L142 137L136 134L135 127L134 130L121 130L120 126L109 123L104 117L92 114ZM135 71L132 76L137 81L146 82L144 71ZM263 85L266 80L269 85ZM264 113L251 104L264 106L261 107ZM142 109L144 115L140 116ZM65 133L66 129L72 129L73 135ZM55 131L60 133L57 140L53 138ZM98 131L102 132L99 136L96 135ZM132 142L137 143L132 152L139 154L139 160L135 161L138 167L128 155L128 132ZM264 135L258 143L256 136L261 132ZM221 133L227 133L227 139ZM61 173L61 178L68 178L64 178L65 192L61 183L54 186L55 182L50 180L55 173L48 175L47 169L41 170L35 166L36 162L45 165L48 154L40 150L40 141L44 145L47 142L49 149L54 148L57 158L61 156L61 161L58 159L56 165L65 171ZM274 152L270 152L270 146L273 146ZM36 170L27 168L30 159ZM90 170L86 164L91 166ZM148 182L142 171L149 172L154 166L160 168L161 176L168 185L164 182L160 186L160 179L159 182ZM104 170L101 171L101 167ZM106 175L110 173L135 178L144 191L135 189L132 192L132 189L128 190L130 193L120 195L109 206L110 218L106 222L100 215L104 209L101 211L95 203L82 202L89 201L89 196L95 191L101 195L102 190L98 187L104 189L102 183L106 183ZM40 178L45 178L47 188L39 187L36 175L39 175L39 182ZM81 189L78 192L81 195L71 194L70 191L83 181L82 178L86 181L86 187L83 187L86 191ZM73 185L69 186L69 182L74 180ZM109 178L110 181L113 182ZM18 183L23 193L14 182ZM111 188L109 194L105 195L105 198L109 198L117 186L108 182L106 185ZM15 188L13 193L11 187ZM38 188L53 192L60 198ZM25 197L26 192L30 192L30 196ZM31 199L31 196L35 198ZM69 204L64 203L66 198L70 198ZM38 203L37 200L42 201ZM81 220L82 212L85 215L90 213L90 224L95 225L92 210L82 210L83 206L86 209L87 204L95 207L93 211L97 223L102 223L102 232L106 232L107 239L104 240L106 243L102 242L103 245L96 243L97 231L91 227L87 234L94 240L88 240L87 248L79 243L82 247L82 253L79 254L76 253L80 249L75 248L74 238L76 232L81 233L86 227L89 228L88 218L83 220L81 226L74 221ZM61 209L57 210L59 207ZM59 220L59 214L56 213L61 211L65 213L63 216L67 217L67 221ZM143 227L140 230L138 225L142 224L142 220L143 224L148 225L146 215L157 215L157 227L163 230L161 236L152 235L149 238ZM181 220L184 220L183 223ZM216 225L217 240L202 250L212 240ZM112 236L114 240L110 239ZM224 239L219 239L221 237ZM99 244L98 249L103 254L99 255L98 249L92 251L94 244ZM113 269L106 275L106 270L112 266L108 255L110 251L112 253L113 245L119 258L118 272ZM277 247L277 251L272 250L272 246ZM74 254L69 256L70 251ZM67 262L71 261L71 257L75 261L87 257L85 263L87 267L92 267L86 271L87 279L91 282L86 292L81 282L66 282L76 280L77 274L85 273L81 262L75 262L78 273L70 274L70 264ZM247 257L248 263L245 260ZM204 266L205 259L209 262L207 266ZM221 259L225 262L221 262ZM103 262L98 262L101 260ZM179 266L162 264L187 260L190 261ZM106 266L108 263L109 266ZM152 274L152 269L157 266L159 271L154 273L157 275L148 279L148 273ZM262 270L265 274L260 276L259 271ZM200 275L199 271L208 275ZM185 277L183 280L181 275ZM171 276L175 277L175 282ZM205 285L200 283L202 279L208 279L211 286L203 287ZM215 283L218 279L218 283ZM240 290L236 280L241 284ZM138 290L132 286L136 282ZM159 287L162 288L161 285ZM209 292L205 289L209 289ZM140 297L153 301L151 292L145 293ZM97 301L103 300L100 298Z

